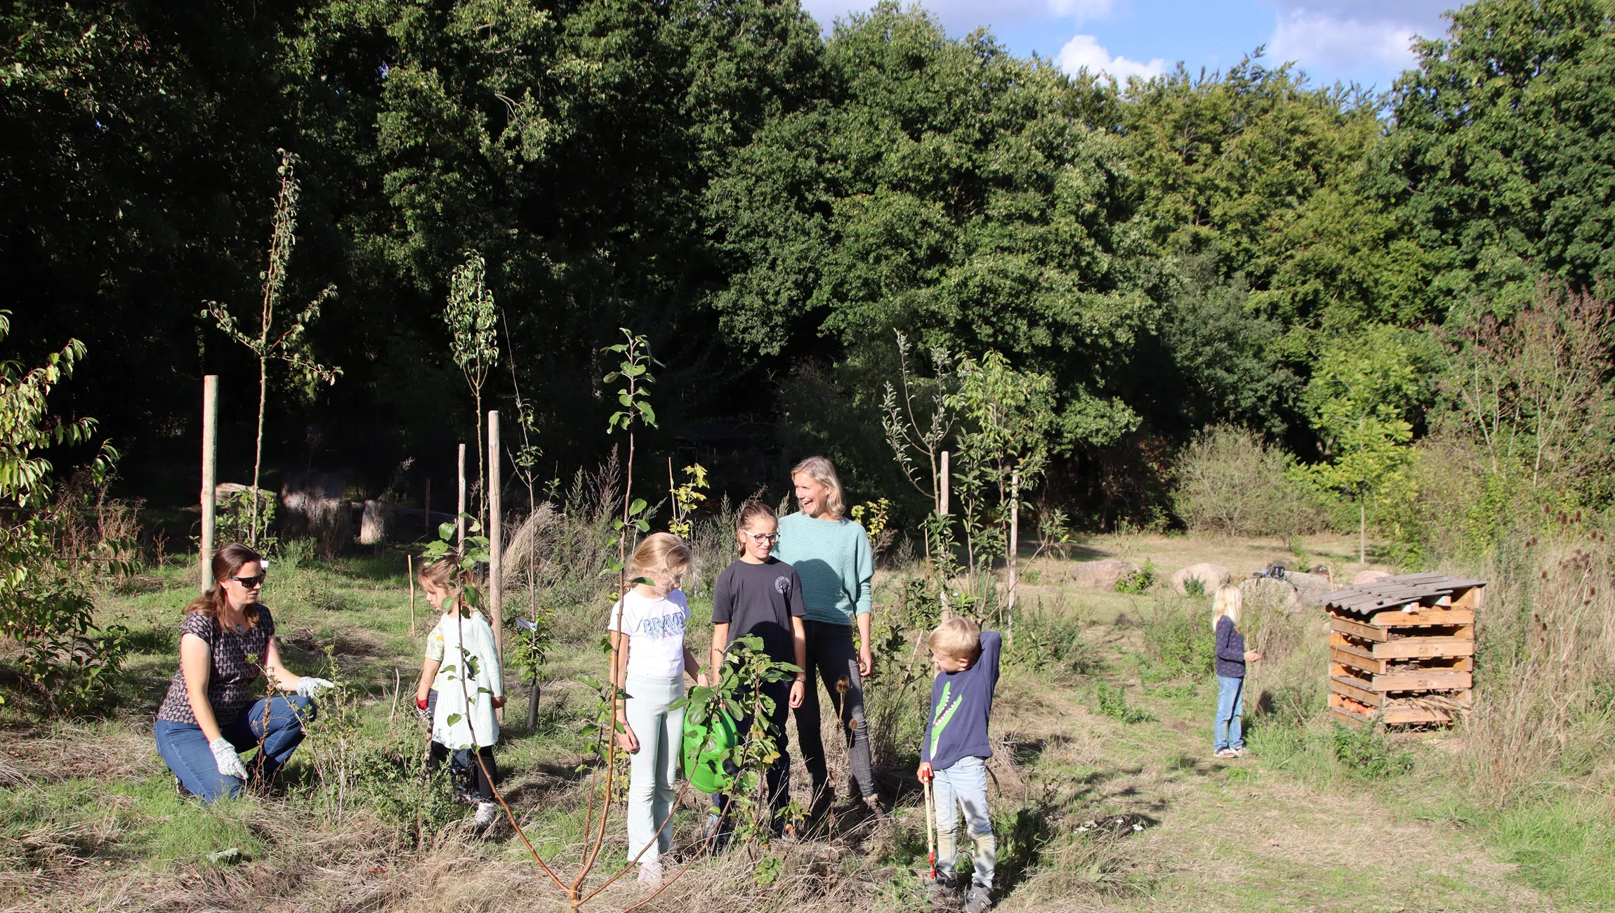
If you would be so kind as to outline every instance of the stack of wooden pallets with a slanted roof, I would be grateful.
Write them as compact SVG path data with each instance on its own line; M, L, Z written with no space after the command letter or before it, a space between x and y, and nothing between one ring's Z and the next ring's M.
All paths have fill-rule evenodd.
M1473 703L1484 580L1405 574L1324 596L1329 709L1386 724L1452 722Z

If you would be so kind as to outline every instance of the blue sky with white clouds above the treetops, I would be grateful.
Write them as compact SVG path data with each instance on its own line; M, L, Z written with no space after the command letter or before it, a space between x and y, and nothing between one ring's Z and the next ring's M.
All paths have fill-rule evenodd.
M872 0L803 0L825 29ZM1450 0L924 0L950 36L990 26L1013 52L1080 68L1153 76L1184 61L1221 69L1256 45L1313 82L1389 89L1413 65L1408 40L1439 37Z

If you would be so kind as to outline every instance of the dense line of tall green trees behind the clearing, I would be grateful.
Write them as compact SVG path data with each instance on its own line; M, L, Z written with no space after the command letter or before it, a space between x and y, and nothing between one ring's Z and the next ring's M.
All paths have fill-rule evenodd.
M371 486L470 440L441 312L472 249L494 401L520 383L562 473L607 446L627 325L665 362L652 449L772 427L895 494L901 331L1055 380L1048 496L1089 524L1160 514L1164 454L1213 423L1337 457L1358 375L1357 414L1424 435L1436 334L1615 270L1604 2L1463 6L1381 97L1261 57L1071 78L896 3L820 37L790 0L15 0L0 36L8 349L81 338L55 407L173 501L203 373L226 478L250 465L255 364L202 302L258 296L278 149L287 294L336 286L310 351L344 373L278 381L270 462Z

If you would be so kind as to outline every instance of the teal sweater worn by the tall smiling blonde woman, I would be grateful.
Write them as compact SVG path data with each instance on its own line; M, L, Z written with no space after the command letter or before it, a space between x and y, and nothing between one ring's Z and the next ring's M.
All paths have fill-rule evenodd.
M809 621L849 625L854 616L869 614L875 554L869 533L856 522L799 512L782 517L774 557L796 569Z

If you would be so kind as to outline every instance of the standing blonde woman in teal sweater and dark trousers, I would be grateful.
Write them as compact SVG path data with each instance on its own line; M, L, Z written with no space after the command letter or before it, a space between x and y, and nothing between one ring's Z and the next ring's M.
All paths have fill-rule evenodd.
M835 784L828 782L824 740L819 737L819 687L824 679L830 701L849 737L849 759L858 792L870 811L880 813L875 777L869 759L869 732L864 726L864 675L874 667L869 635L869 582L875 575L875 556L869 533L846 519L841 480L825 457L808 457L791 470L801 511L780 519L780 538L774 556L796 569L808 614L808 688L796 708L796 742L812 780L809 816L822 816L835 800ZM853 625L858 642L853 646ZM843 685L845 682L845 685Z

